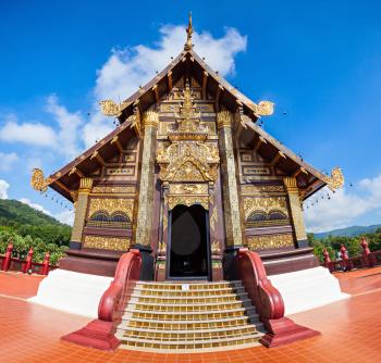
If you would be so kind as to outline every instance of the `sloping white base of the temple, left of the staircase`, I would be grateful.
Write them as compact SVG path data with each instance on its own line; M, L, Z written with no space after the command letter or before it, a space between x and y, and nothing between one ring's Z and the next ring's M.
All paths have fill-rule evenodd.
M112 277L54 270L41 280L37 296L28 299L72 314L98 317L98 304Z

